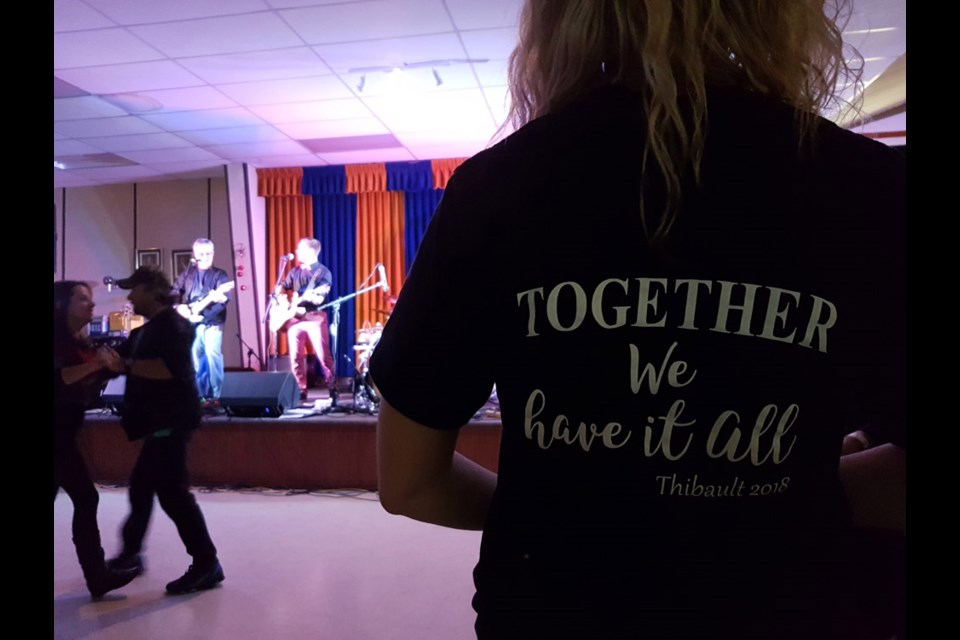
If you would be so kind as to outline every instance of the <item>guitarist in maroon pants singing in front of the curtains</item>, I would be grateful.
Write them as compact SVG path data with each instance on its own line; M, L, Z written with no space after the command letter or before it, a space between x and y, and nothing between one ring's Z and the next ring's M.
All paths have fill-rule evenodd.
M300 385L300 399L307 399L307 373L303 360L309 343L317 354L323 369L327 388L336 380L333 355L330 353L330 329L327 314L318 311L330 293L333 274L320 264L320 241L301 238L297 243L297 266L283 279L277 288L277 304L271 311L271 327L280 323L287 331L287 348L290 351L290 370ZM288 303L281 294L292 294Z

